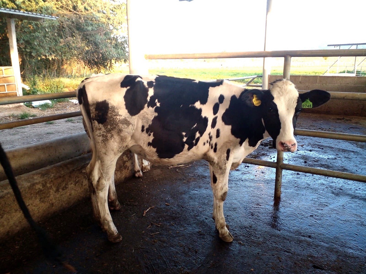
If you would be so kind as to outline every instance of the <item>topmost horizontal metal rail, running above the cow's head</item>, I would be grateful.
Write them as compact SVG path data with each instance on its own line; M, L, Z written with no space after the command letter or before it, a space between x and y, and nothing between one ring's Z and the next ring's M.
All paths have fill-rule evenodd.
M261 57L338 57L366 56L366 49L322 49L322 50L275 50L260 52L219 52L219 53L179 53L146 54L152 59L212 59L212 58L261 58Z

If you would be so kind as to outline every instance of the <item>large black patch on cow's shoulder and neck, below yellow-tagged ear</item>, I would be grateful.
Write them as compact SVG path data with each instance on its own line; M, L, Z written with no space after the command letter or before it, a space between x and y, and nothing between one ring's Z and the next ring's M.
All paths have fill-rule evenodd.
M265 95L261 97L262 104L258 107L250 107L242 99L248 91L244 90L239 98L235 95L231 96L229 107L225 110L222 120L225 125L231 126L231 134L239 139L240 145L249 139L249 145L256 146L258 141L263 139L265 132L262 123L263 106L273 102L273 96L270 91L266 91Z

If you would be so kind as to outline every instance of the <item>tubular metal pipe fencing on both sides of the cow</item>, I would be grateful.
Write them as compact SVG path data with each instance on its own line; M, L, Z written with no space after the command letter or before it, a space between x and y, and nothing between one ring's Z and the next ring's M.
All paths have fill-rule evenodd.
M202 54L150 54L146 55L146 59L201 59L201 58L248 58L248 57L284 57L283 77L290 78L291 57L330 57L330 56L366 56L366 49L357 50L305 50L305 51L273 51L273 52L239 52L239 53L202 53ZM240 77L244 79L251 79L246 85L257 87L258 85L250 84L257 75ZM239 80L238 78L229 80ZM350 100L366 100L366 94L356 92L329 92L331 99L350 99ZM0 105L25 103L46 99L60 99L75 97L75 92L61 92L56 94L42 94L42 95L28 95L20 97L0 98ZM0 123L0 129L9 129L18 126L31 125L35 123L42 123L53 121L57 119L64 119L70 117L80 116L80 111L71 113L50 115L45 117L27 119L23 121ZM322 132L316 130L296 129L295 135L330 138L336 140L366 142L366 135ZM283 163L283 152L277 152L277 162L264 161L258 159L251 159L246 157L243 163L262 165L266 167L276 168L275 179L275 198L281 195L282 171L291 170L298 172L305 172L316 175L329 176L334 178L341 178L347 180L355 180L359 182L366 182L365 175L351 174L347 172L339 172L333 170L324 170L320 168L305 167L301 165L292 165Z

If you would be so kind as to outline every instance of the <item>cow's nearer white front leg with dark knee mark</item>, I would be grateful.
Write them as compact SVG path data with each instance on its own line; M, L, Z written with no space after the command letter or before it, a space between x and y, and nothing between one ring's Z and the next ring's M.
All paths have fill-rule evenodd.
M228 193L229 167L218 164L209 164L211 175L211 188L213 192L212 218L215 220L216 229L221 240L231 242L233 237L228 230L224 217L224 201Z

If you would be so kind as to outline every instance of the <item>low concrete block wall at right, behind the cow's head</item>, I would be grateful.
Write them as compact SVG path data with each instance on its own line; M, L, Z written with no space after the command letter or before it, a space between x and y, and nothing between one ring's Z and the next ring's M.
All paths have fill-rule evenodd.
M269 75L268 83L282 79L281 75ZM355 76L305 76L291 75L290 80L300 90L325 90L366 93L366 77ZM323 106L304 112L366 117L366 101L330 99Z

